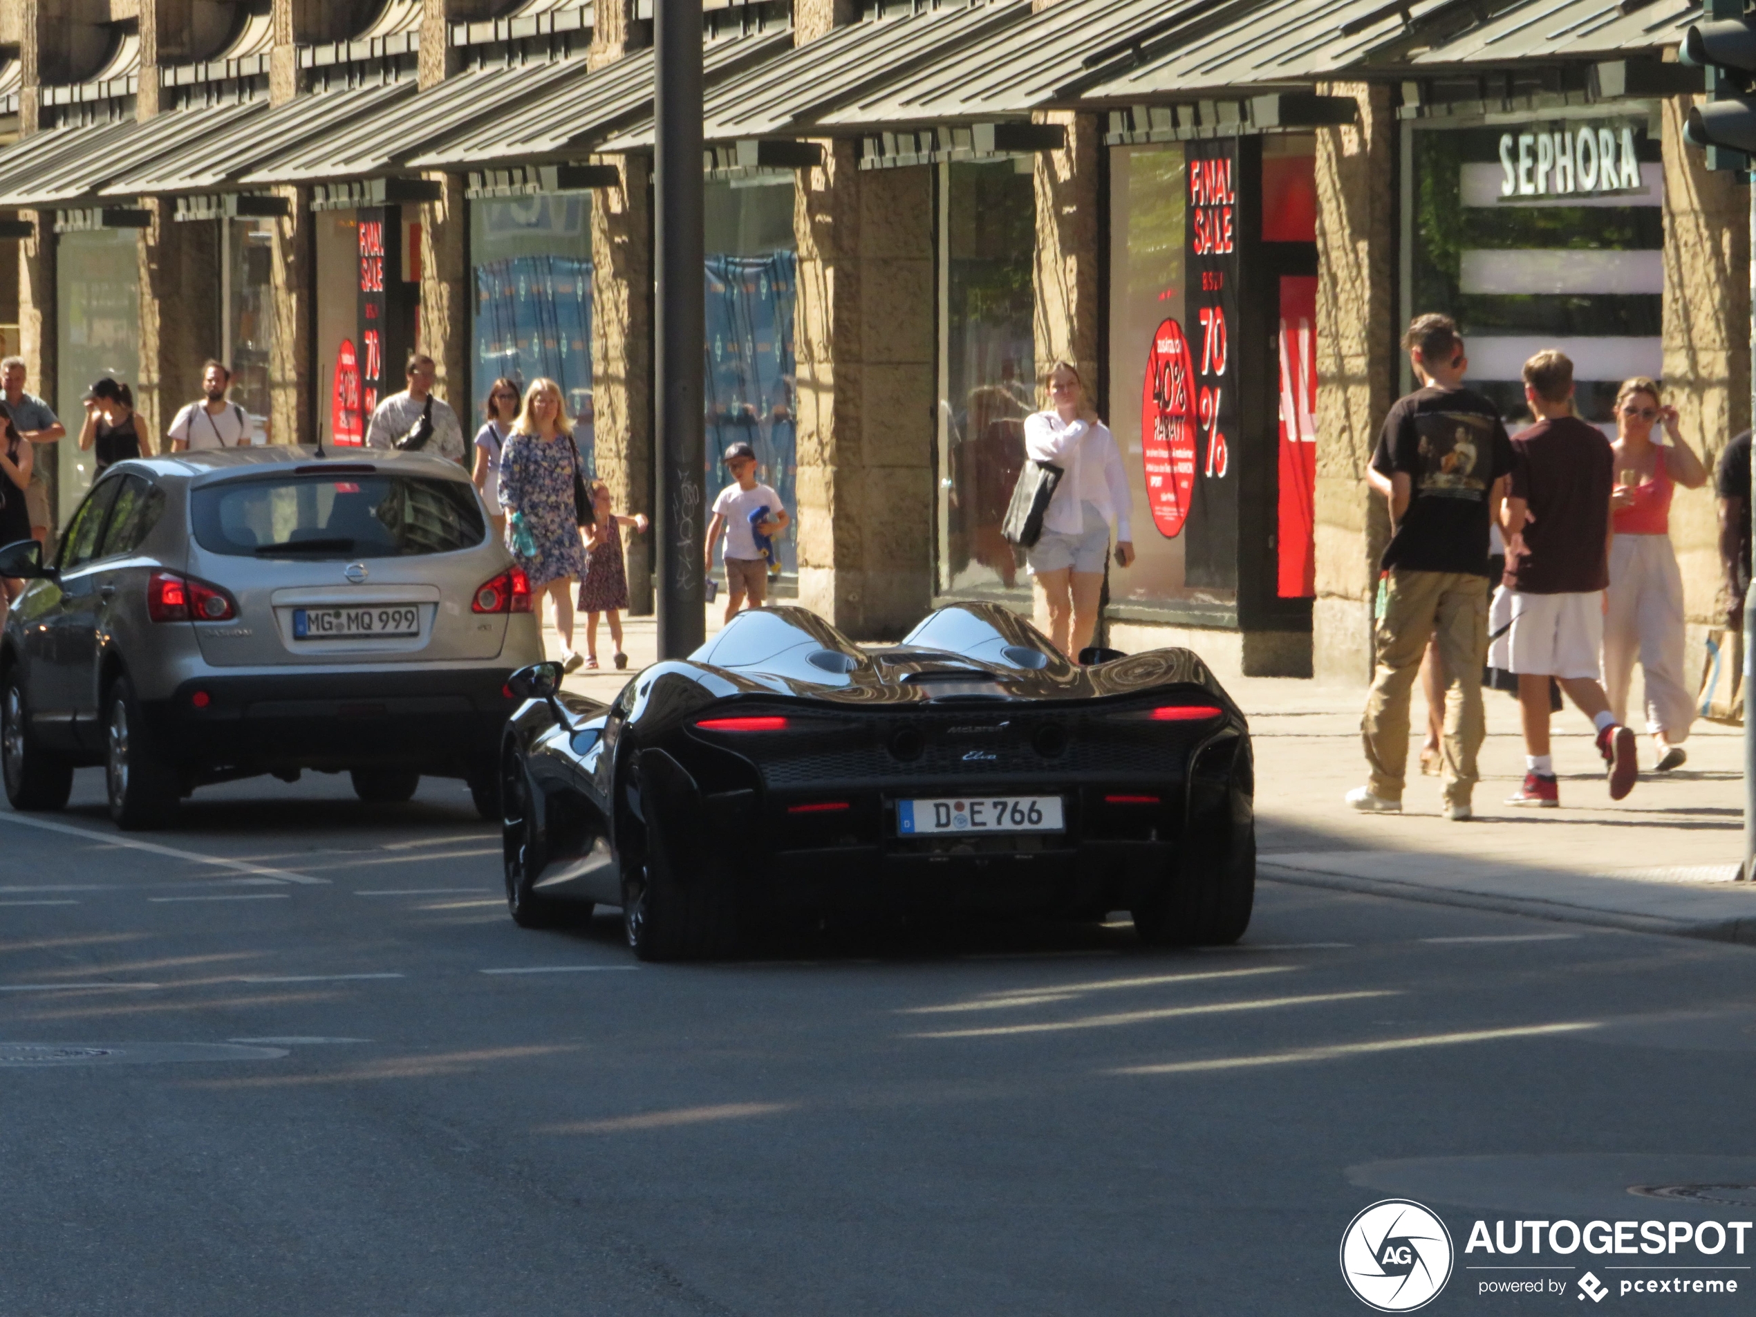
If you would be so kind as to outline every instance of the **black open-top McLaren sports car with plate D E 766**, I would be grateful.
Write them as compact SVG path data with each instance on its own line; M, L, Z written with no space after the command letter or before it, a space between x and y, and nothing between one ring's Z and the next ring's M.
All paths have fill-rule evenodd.
M1243 715L1187 650L1082 657L990 604L889 648L769 608L609 708L527 667L502 757L513 918L620 906L653 961L799 915L1129 910L1154 945L1236 941L1256 890Z

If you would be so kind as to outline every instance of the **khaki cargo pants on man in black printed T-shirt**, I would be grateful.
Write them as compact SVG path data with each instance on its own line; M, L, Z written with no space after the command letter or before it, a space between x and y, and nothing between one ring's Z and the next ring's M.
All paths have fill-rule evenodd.
M1371 766L1371 794L1403 797L1408 766L1408 695L1428 639L1438 641L1445 681L1445 804L1468 804L1482 722L1482 664L1487 660L1487 581L1466 572L1391 569L1377 629L1377 671L1359 732Z

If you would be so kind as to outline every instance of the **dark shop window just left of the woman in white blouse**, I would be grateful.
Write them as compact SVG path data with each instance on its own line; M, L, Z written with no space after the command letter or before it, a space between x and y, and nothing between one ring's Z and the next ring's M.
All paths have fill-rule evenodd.
M1036 411L1033 169L1027 158L939 165L938 270L938 588L1026 609L1024 553L999 529Z

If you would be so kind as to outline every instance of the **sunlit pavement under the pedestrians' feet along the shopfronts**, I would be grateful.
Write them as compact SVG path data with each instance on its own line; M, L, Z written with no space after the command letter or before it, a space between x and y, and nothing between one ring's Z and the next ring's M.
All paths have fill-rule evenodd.
M723 604L708 608L708 634ZM627 618L627 673L579 671L567 688L606 704L657 655L653 618ZM583 620L579 651L585 651ZM544 630L548 653L560 643ZM1422 778L1419 738L1410 741L1403 815L1356 815L1342 795L1366 780L1359 746L1364 687L1317 687L1282 678L1229 685L1250 716L1261 873L1277 882L1477 906L1538 918L1598 924L1756 945L1756 883L1735 882L1744 829L1744 732L1696 723L1689 762L1644 774L1633 794L1608 797L1591 725L1572 708L1554 716L1559 810L1503 804L1524 776L1517 704L1486 692L1487 743L1475 818L1440 815L1438 778ZM1635 674L1630 708L1638 708ZM1419 692L1414 722L1424 716ZM1637 727L1638 729L1638 727ZM1640 738L1642 764L1651 741Z

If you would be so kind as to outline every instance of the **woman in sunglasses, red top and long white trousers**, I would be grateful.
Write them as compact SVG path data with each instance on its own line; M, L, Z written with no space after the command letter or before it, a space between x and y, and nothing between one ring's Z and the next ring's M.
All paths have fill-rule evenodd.
M1668 443L1659 441L1659 427ZM1677 485L1702 488L1707 467L1684 443L1677 409L1659 402L1658 385L1645 376L1623 381L1616 395L1616 472L1603 690L1616 720L1626 722L1638 658L1654 767L1670 773L1688 759L1682 741L1695 722L1695 701L1682 683L1682 574L1670 548L1670 497Z

